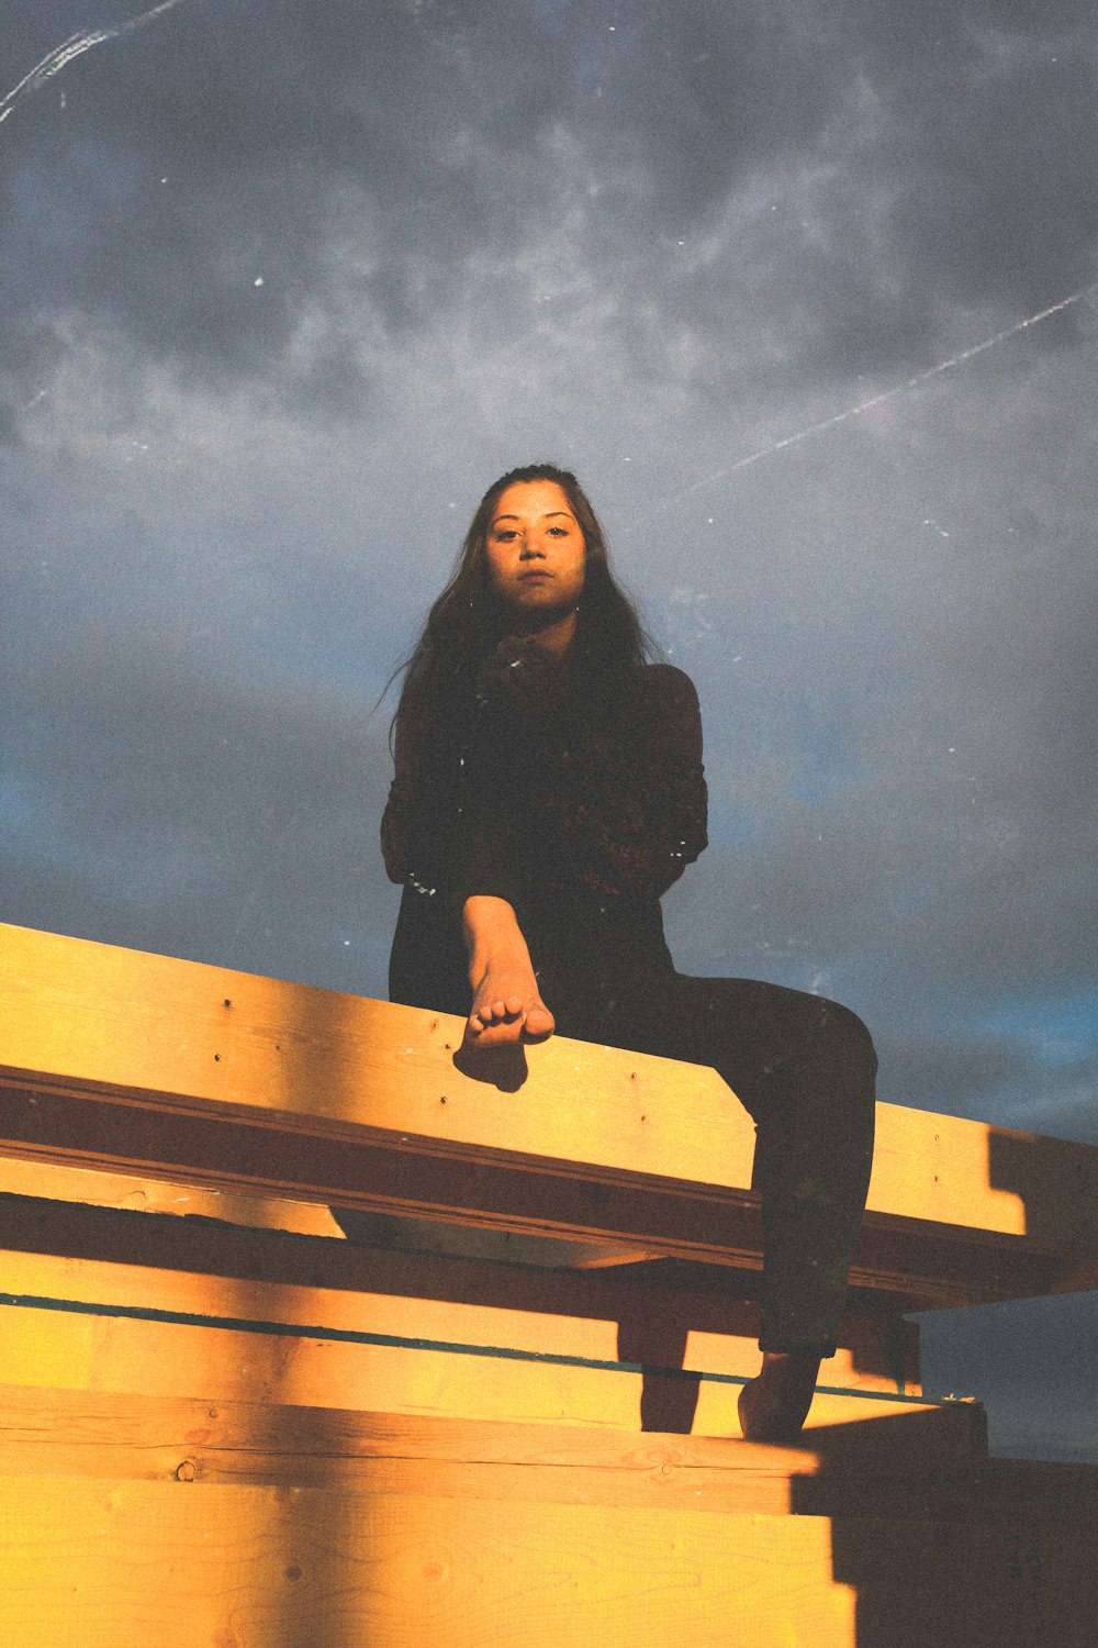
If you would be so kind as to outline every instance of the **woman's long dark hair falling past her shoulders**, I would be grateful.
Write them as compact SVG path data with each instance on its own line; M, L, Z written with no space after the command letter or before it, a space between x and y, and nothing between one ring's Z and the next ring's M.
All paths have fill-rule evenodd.
M489 583L486 541L500 496L520 481L555 481L583 532L584 583L570 653L573 676L583 681L583 692L576 697L596 714L607 712L622 695L630 672L662 656L611 572L606 536L571 470L553 463L509 470L492 481L477 504L449 583L397 671L403 674L403 686L390 737L395 730L398 745L408 735L418 747L423 728L471 692L479 664L507 633L505 616Z

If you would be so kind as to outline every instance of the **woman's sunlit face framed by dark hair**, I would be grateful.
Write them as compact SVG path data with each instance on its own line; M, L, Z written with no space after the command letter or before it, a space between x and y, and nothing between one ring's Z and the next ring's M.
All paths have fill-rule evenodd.
M575 613L586 545L556 481L515 481L500 494L484 537L495 595L537 630Z

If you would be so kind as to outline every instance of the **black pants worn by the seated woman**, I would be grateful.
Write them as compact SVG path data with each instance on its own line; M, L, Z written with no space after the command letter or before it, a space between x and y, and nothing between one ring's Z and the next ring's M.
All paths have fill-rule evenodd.
M458 934L448 939L446 977L426 986L426 957L436 964L448 954L446 936L425 928L420 938L415 915L402 908L393 1000L468 1012ZM547 901L523 916L523 931L561 1035L710 1065L728 1081L757 1129L759 1343L835 1355L872 1165L877 1058L863 1022L836 1002L777 984L675 972L655 903ZM716 1155L719 1149L714 1139Z

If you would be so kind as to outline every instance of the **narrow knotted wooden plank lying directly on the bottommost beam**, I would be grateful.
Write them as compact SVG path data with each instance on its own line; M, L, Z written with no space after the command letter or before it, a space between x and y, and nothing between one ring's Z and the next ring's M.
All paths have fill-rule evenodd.
M281 1414L283 1409L275 1412ZM71 1414L61 1402L53 1417L59 1426L71 1424ZM481 1435L487 1427L484 1422L477 1427ZM533 1432L537 1427L497 1429ZM863 1422L846 1429L871 1430L872 1426ZM449 1452L440 1454L438 1447L420 1450L405 1437L388 1449L372 1449L361 1455L334 1449L321 1427L314 1430L314 1450L296 1454L290 1454L278 1437L272 1437L267 1447L242 1442L227 1449L196 1440L194 1430L186 1439L178 1437L173 1445L163 1421L155 1435L137 1447L117 1435L87 1440L74 1437L72 1430L58 1430L53 1444L13 1439L2 1430L0 1435L7 1475L326 1488L451 1500L721 1511L737 1516L872 1516L983 1526L1026 1521L1075 1533L1093 1533L1098 1526L1098 1482L1093 1473L1086 1482L1029 1478L1017 1468L1007 1475L989 1468L1003 1463L996 1460L984 1462L988 1468L981 1470L948 1458L927 1467L925 1460L915 1463L902 1452L889 1455L887 1467L877 1463L876 1468L868 1468L864 1455L887 1454L887 1449L881 1444L863 1449L856 1437L849 1449L836 1449L831 1468L820 1473L818 1457L812 1452L793 1455L784 1449L769 1449L762 1450L769 1457L728 1465L685 1460L677 1447L682 1440L696 1447L708 1442L726 1452L749 1447L737 1439L660 1439L652 1434L634 1457L611 1460L589 1458L593 1450L586 1447L555 1447L548 1440L527 1442L519 1458L454 1458ZM594 1434L604 1440L599 1432ZM481 1444L481 1435L476 1445L482 1452L502 1452L499 1445ZM542 1435L548 1437L550 1427ZM468 1450L472 1447L469 1442Z

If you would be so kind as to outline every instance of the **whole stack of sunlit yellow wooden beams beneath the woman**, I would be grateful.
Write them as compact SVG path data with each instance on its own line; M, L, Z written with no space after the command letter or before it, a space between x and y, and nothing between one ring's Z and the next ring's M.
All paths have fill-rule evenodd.
M881 1104L803 1445L698 1066L0 928L0 1641L1075 1648L1098 1472L909 1310L1098 1287L1098 1150Z

